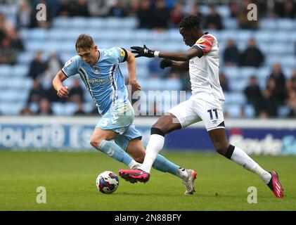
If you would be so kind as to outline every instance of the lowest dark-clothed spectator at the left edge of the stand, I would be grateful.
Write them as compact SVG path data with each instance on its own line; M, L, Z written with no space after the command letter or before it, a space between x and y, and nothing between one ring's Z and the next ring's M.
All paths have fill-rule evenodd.
M11 39L4 37L0 43L0 64L15 65L18 51L11 46Z

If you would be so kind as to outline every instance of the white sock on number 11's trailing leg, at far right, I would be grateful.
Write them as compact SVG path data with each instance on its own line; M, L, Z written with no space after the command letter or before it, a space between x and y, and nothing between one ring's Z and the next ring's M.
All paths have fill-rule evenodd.
M253 173L257 174L265 184L268 184L271 179L271 174L266 172L262 167L260 167L257 162L252 160L244 150L241 150L238 147L235 147L233 153L231 155L231 160L241 165L243 168L252 171Z

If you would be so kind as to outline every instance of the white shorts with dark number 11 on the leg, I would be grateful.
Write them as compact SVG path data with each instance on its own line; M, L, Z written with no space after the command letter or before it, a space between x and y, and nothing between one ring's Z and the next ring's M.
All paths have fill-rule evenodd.
M169 113L179 120L182 128L202 120L207 131L210 131L225 128L223 103L213 94L199 93L171 108Z

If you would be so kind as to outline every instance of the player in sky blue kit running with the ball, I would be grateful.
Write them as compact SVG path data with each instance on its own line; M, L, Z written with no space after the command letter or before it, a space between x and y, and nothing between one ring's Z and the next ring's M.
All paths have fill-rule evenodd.
M129 103L119 67L120 63L127 62L129 83L140 90L141 86L136 81L136 60L133 53L119 47L98 49L92 37L86 34L79 35L75 49L77 56L68 60L53 79L54 89L60 98L69 97L70 91L67 86L63 86L63 81L78 74L102 116L91 136L91 146L129 168L136 169L143 162L146 151L141 143L141 134L132 124L134 109ZM193 194L196 176L193 169L174 165L162 155L157 156L153 167L179 176L186 186L185 194Z

